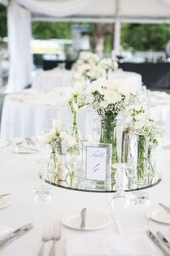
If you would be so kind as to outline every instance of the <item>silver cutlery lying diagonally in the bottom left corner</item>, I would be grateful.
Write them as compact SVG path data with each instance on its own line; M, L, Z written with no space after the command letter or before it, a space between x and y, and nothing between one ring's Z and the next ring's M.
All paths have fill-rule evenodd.
M30 229L33 228L33 224L29 223L26 224L24 226L22 226L19 229L16 229L14 231L12 231L9 235L7 235L6 237L4 237L4 239L0 240L0 249L6 247L7 244L10 244L11 242L13 242L15 239L19 238L20 236L26 234L28 231L30 231Z

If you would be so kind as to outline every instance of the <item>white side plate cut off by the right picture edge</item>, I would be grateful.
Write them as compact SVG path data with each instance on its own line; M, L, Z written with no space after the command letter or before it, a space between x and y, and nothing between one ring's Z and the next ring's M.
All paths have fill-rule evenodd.
M158 206L150 213L148 213L148 217L151 218L153 221L170 224L170 213L167 210L161 208L161 206Z

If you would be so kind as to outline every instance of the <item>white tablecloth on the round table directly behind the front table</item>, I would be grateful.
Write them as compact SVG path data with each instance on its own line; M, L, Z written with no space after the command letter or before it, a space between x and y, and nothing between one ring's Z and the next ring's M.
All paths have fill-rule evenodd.
M8 136L5 126L8 122L18 124L14 129L14 137L40 135L42 130L51 128L52 119L61 119L69 129L71 127L71 111L61 106L62 93L63 89L61 88L58 91L45 93L26 90L24 93L7 95L1 116L1 138ZM151 115L166 122L166 140L170 140L170 95L160 92L157 95L161 95L161 100L153 98ZM79 111L78 127L82 136L92 135L93 120L96 118L97 114L94 111L86 111L85 108Z

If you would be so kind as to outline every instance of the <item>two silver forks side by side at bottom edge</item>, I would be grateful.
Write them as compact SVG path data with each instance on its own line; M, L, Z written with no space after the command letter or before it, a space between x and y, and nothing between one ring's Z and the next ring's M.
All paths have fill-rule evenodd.
M55 256L55 243L61 239L61 223L56 223L53 227L45 227L42 234L42 246L40 247L40 251L37 256L44 255L44 245L46 242L50 240L53 241L53 244L50 248L49 256Z

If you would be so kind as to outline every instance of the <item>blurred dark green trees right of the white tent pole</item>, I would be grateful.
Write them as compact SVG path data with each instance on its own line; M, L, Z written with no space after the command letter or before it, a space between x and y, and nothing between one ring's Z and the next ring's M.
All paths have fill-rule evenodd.
M122 48L164 51L169 39L169 24L122 24Z

